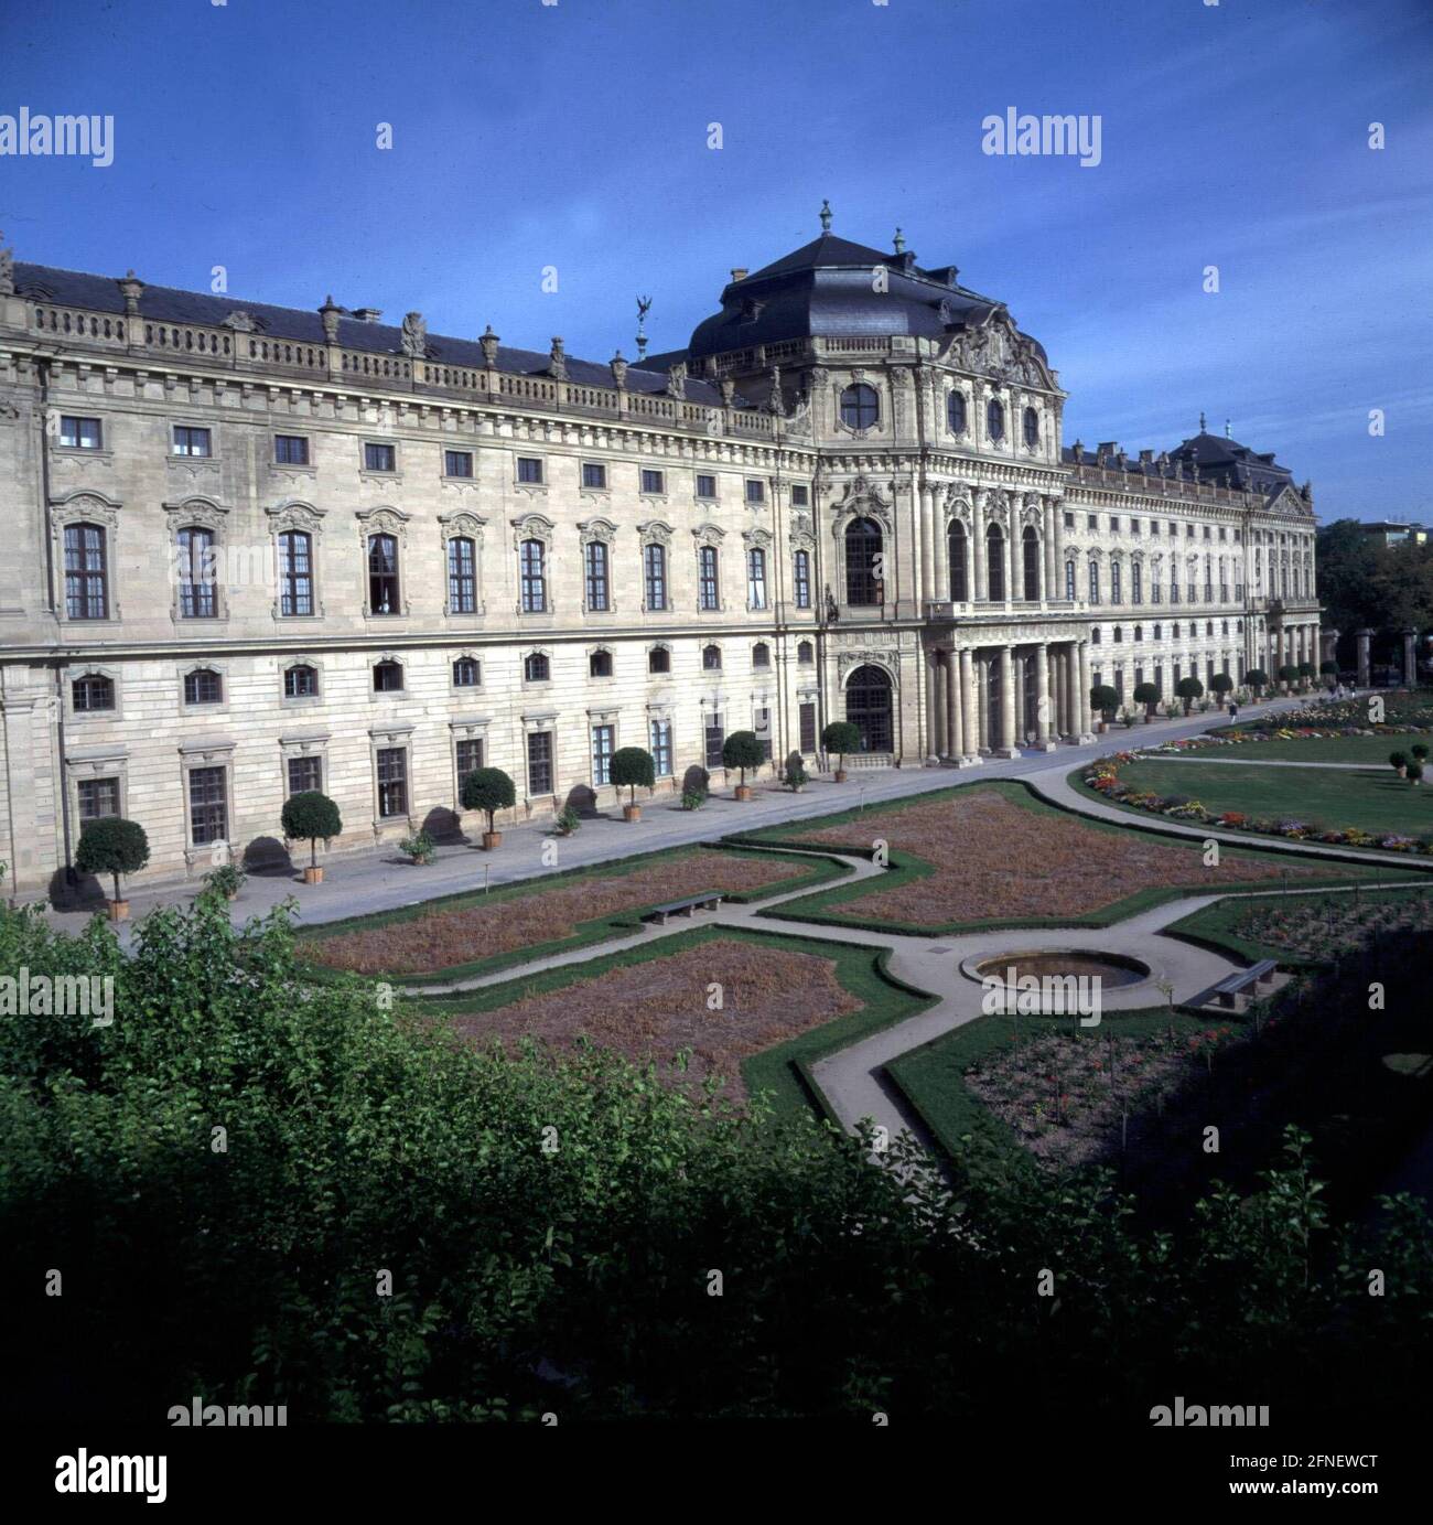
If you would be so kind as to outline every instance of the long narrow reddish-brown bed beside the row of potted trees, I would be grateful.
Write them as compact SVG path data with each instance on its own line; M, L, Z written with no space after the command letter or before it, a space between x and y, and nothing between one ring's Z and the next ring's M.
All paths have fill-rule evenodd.
M320 971L424 984L462 979L569 952L634 930L666 900L720 889L753 901L842 878L823 857L739 848L675 848L569 874L547 874L483 894L466 891L370 917L331 921L300 933Z

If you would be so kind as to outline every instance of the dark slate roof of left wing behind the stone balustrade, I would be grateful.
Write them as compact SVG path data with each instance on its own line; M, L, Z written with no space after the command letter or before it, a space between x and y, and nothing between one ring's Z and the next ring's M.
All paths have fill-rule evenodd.
M79 270L58 270L53 265L35 265L15 261L15 293L30 300L49 302L56 307L76 307L91 313L114 313L123 316L125 300L114 276L87 274ZM183 291L177 287L145 285L139 299L142 317L155 323L200 323L221 328L235 313L244 313L258 332L268 339L288 339L303 345L328 343L323 334L323 319L319 310L306 311L293 307L274 307L268 302L250 302L236 296L213 296L207 291ZM482 371L482 345L476 339L451 339L444 334L427 336L427 357L451 366L470 366ZM370 323L361 317L338 317L338 343L345 349L363 349L370 354L401 355L402 329L392 323ZM567 355L567 380L585 386L613 384L607 361L578 360ZM546 375L550 357L535 349L514 349L502 345L497 352L497 369L514 375ZM637 361L628 361L627 387L630 392L665 392L666 374L643 369ZM720 406L721 390L709 381L689 377L686 398L692 403ZM736 398L736 406L747 406Z

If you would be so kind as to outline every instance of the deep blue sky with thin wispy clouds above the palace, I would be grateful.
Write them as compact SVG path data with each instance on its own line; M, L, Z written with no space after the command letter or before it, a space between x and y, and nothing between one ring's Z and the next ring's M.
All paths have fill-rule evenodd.
M0 157L0 229L605 360L637 293L678 348L829 197L1009 303L1067 442L1169 447L1204 409L1323 518L1433 517L1430 66L1428 0L6 5L0 113L113 114L114 163ZM982 154L1006 107L1098 113L1102 162Z

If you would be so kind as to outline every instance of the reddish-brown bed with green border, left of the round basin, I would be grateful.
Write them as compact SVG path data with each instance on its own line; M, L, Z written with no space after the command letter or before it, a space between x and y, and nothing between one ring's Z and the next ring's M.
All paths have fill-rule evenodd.
M721 987L713 1010L712 987ZM640 949L413 1002L474 1042L582 1039L659 1063L678 1049L684 1080L739 1075L727 1093L765 1092L777 1112L823 1112L808 1066L933 1003L884 973L869 947L703 927Z

